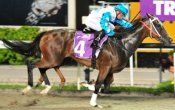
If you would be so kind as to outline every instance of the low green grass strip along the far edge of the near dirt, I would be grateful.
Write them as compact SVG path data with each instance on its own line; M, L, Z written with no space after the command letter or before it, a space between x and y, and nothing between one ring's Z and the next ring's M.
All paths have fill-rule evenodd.
M0 89L15 89L15 90L22 90L25 88L26 85L20 85L20 84L0 84ZM34 87L35 88L35 87ZM43 86L38 87L37 89L42 90L44 89ZM57 85L52 86L53 91L59 90L59 87ZM85 87L81 87L81 91L88 90ZM67 84L64 86L64 91L77 91L76 84ZM162 93L173 93L174 92L174 85L171 84L171 81L163 82L159 85L157 85L154 88L147 88L147 87L136 87L136 86L112 86L110 88L110 91L113 91L115 93L147 93L147 94L153 94L153 95L160 95Z

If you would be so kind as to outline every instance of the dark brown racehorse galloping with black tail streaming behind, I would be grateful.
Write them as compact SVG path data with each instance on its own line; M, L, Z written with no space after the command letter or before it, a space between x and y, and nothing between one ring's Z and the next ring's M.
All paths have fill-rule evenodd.
M118 40L117 36L122 36L122 38ZM148 36L167 45L172 42L160 20L150 14L134 23L133 27L121 29L117 32L116 37L108 39L96 59L96 68L99 73L95 83L95 90L90 99L90 105L98 106L96 100L101 85L104 84L106 89L110 87L114 80L113 73L120 72L125 68L129 57ZM7 40L3 40L3 42L11 50L26 56L34 55L38 49L41 51L42 57L39 61L28 62L27 90L33 86L33 68L37 67L41 70L41 73L44 73L46 69L56 67L61 73L59 67L66 57L71 57L88 67L91 66L91 59L75 57L73 52L74 32L61 29L43 32L33 42L27 44ZM46 75L42 74L42 76L45 78Z

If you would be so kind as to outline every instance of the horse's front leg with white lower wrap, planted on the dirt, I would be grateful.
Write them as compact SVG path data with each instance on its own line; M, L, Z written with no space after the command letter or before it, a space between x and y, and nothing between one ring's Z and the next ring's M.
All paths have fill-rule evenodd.
M97 96L99 93L99 90L101 88L101 85L104 83L104 80L107 76L107 74L109 69L108 68L102 68L101 70L99 69L99 74L98 74L98 78L95 84L95 91L92 93L92 97L90 100L90 105L94 106L94 107L100 107L102 108L100 105L97 104Z

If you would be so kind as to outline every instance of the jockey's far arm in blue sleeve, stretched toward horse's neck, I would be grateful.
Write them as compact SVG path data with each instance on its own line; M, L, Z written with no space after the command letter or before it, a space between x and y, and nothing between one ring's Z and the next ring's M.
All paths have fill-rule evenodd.
M121 25L124 28L130 28L130 27L133 26L133 24L127 22L124 19L116 19L116 20L113 21L113 23L119 24L119 25Z

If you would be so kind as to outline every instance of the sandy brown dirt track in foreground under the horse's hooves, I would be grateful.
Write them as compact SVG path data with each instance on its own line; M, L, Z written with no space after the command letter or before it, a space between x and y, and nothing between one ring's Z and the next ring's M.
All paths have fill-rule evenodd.
M90 92L63 92L41 96L19 91L0 91L0 110L99 110L89 105ZM102 110L175 110L175 97L102 94Z

